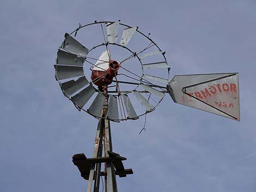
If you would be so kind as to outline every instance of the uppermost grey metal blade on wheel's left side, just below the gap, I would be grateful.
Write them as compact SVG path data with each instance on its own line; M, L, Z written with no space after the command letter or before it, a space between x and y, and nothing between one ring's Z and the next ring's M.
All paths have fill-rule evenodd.
M89 49L84 47L80 42L72 38L71 35L68 33L65 34L65 40L61 46L62 48L71 51L72 53L75 53L77 55L81 55L83 57L86 57Z

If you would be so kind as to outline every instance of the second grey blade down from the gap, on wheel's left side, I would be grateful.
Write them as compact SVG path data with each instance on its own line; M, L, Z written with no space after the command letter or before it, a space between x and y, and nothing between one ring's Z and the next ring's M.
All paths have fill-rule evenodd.
M59 50L57 53L57 64L58 65L74 65L83 66L84 58L78 57L76 54L68 53Z

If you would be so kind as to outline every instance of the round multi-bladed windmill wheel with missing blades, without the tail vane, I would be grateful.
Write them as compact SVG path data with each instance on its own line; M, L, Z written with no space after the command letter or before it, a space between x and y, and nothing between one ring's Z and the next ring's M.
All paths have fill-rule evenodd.
M97 118L106 98L112 121L152 112L167 92L164 53L138 27L95 21L65 34L58 49L56 80L78 110Z

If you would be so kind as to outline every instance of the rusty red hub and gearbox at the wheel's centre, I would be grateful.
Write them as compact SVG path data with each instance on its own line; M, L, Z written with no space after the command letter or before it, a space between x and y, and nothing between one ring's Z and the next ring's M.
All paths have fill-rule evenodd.
M111 60L108 63L107 70L93 70L91 79L100 90L107 93L107 86L112 83L113 78L117 76L117 71L120 68L118 61Z

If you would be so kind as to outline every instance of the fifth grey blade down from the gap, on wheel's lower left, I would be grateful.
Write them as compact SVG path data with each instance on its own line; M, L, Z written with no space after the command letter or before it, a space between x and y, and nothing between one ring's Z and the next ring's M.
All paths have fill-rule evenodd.
M90 84L89 86L87 86L87 88L83 89L82 91L78 92L78 94L71 97L71 100L82 108L95 92L96 91L93 85Z

